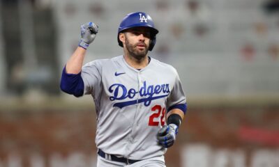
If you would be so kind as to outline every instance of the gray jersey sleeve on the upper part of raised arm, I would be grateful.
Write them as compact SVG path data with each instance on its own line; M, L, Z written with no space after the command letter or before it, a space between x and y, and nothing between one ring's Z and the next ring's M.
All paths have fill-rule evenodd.
M84 81L84 95L95 94L102 80L101 65L98 61L86 63L82 67L82 80Z

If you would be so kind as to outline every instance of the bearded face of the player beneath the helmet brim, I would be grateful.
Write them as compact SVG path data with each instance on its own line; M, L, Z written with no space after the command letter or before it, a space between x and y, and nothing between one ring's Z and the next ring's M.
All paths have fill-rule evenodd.
M135 27L125 31L126 49L130 56L140 60L144 58L149 50L150 29L146 27Z

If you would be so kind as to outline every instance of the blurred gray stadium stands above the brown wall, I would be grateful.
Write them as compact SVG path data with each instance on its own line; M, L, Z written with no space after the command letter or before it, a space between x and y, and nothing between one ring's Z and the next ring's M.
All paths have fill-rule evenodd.
M243 71L248 70L246 73L251 76L252 72L264 68L262 76L273 76L276 74L273 71L279 70L278 3L278 0L133 3L125 0L86 0L82 3L73 0L2 0L0 96L23 95L33 89L47 95L59 95L61 69L77 46L80 24L93 21L100 26L100 35L89 50L87 60L110 58L121 53L116 43L120 19L135 10L144 10L153 17L160 33L152 56L185 72L181 79L190 94L212 94L218 92L218 88L221 88L220 95L243 92L248 85L261 80L256 76L247 81L246 76L241 76ZM246 62L250 62L248 69ZM219 65L231 65L232 68L220 72L216 69ZM229 79L231 71L236 71L235 75L239 77ZM209 74L212 73L216 76L211 81ZM250 91L279 92L278 77L262 79L267 80L266 83L256 85ZM195 84L202 81L209 87ZM222 82L222 86L211 88L215 81ZM271 88L264 88L266 84Z

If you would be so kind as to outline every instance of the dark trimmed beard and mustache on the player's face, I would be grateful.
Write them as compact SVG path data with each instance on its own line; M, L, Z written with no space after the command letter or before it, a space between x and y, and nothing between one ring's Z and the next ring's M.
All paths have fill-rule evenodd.
M144 42L137 42L135 45L133 45L128 38L125 38L126 48L130 56L133 56L137 60L141 60L144 58L148 52L149 46L146 46ZM144 45L145 49L137 49L137 45Z

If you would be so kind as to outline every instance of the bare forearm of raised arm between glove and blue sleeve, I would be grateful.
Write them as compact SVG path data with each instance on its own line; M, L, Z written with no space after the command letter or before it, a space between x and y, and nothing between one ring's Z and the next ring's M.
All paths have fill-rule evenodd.
M82 65L84 62L84 57L86 54L86 49L82 47L77 47L73 55L70 57L66 63L66 73L68 74L78 74L82 71Z

